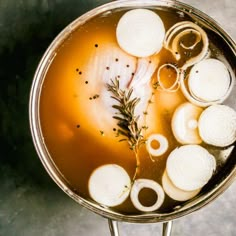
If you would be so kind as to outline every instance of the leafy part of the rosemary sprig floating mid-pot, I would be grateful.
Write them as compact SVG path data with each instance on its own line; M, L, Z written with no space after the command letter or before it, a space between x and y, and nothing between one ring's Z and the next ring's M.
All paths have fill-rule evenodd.
M134 111L140 98L131 98L133 89L121 90L119 80L111 80L111 84L107 84L108 91L112 93L111 98L118 102L112 107L117 110L114 119L118 121L117 135L123 135L126 138L120 141L127 141L130 149L137 151L139 145L144 142L141 134L142 128L138 127L139 116L135 116Z

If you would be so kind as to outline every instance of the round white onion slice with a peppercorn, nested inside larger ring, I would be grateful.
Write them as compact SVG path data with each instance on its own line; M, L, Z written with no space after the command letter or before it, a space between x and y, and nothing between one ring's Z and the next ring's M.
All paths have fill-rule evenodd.
M231 77L227 67L217 59L205 59L193 66L188 86L193 97L206 101L223 101L230 91Z

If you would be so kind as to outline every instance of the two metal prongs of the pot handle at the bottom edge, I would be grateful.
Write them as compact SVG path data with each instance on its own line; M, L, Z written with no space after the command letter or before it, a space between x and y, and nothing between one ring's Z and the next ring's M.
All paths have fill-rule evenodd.
M118 222L108 219L108 225L110 229L111 236L119 236ZM172 221L167 221L163 223L162 236L171 236Z

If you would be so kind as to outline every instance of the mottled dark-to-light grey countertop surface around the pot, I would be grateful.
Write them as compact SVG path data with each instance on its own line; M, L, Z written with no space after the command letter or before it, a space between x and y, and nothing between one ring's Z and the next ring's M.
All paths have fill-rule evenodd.
M107 220L79 206L49 178L35 153L28 98L37 64L73 19L105 0L0 0L0 236L105 236ZM184 0L236 40L235 0ZM173 235L235 236L236 183L174 222ZM120 224L122 236L161 235L161 224Z

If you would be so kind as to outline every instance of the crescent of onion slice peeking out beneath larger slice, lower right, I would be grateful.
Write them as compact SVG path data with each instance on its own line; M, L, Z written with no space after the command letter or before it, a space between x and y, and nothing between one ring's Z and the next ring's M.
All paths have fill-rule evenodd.
M172 181L170 180L167 172L165 171L162 176L162 186L165 193L172 199L176 201L187 201L193 197L195 197L201 189L196 189L193 191L184 191L177 188Z

